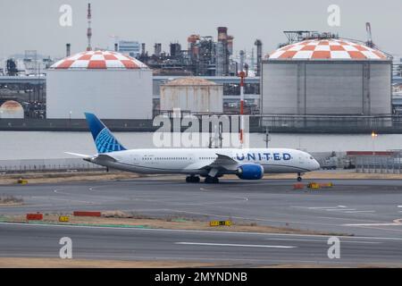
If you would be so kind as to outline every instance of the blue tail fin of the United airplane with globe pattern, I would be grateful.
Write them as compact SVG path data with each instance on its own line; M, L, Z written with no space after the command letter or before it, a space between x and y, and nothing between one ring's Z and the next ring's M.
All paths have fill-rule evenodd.
M101 122L95 114L85 113L85 117L87 119L88 128L94 138L97 153L101 154L127 150L114 138L112 132L107 129L105 124Z

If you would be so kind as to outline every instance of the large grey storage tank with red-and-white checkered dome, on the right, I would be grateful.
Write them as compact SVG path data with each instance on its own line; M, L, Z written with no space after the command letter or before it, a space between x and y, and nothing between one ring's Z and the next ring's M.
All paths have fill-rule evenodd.
M283 46L263 61L263 114L391 113L391 59L343 39Z

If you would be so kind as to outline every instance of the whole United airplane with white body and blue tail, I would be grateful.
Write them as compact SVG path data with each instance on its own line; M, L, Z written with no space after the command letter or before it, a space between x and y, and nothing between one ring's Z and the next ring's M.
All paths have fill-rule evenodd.
M147 174L185 174L187 182L218 183L226 174L243 180L259 180L264 173L297 173L320 169L310 154L289 148L149 148L123 147L95 114L85 113L97 154L66 152L85 161L128 172Z

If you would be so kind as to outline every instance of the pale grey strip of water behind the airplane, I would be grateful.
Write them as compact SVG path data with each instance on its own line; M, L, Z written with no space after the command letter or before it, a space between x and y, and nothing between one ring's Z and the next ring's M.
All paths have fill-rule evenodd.
M151 148L152 132L115 132L128 148ZM96 154L89 132L0 131L0 160L70 158L63 152ZM265 135L251 133L250 147L265 147ZM272 134L270 147L289 147L307 152L345 152L402 149L402 134Z

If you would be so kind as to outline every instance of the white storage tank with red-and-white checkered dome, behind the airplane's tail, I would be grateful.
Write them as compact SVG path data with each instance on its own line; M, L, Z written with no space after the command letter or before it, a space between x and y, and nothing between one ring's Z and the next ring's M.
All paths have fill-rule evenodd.
M46 71L46 117L152 118L152 71L128 55L87 51Z

